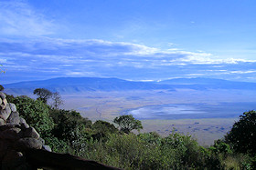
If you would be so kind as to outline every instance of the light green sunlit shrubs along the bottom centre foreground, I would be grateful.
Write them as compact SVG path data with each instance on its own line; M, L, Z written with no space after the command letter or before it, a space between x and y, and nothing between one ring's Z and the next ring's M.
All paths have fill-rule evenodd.
M221 169L219 159L187 135L112 134L105 143L89 140L86 151L87 159L123 169Z

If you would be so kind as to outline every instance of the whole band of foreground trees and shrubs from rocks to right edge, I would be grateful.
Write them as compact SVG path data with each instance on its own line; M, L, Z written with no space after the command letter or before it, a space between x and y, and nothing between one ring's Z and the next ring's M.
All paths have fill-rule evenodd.
M41 97L42 98L42 97ZM155 132L135 135L143 128L133 115L112 123L81 117L74 110L50 106L46 98L7 95L9 103L36 128L56 153L79 155L124 169L254 169L256 112L240 116L231 131L203 147L190 135L175 131L166 137Z

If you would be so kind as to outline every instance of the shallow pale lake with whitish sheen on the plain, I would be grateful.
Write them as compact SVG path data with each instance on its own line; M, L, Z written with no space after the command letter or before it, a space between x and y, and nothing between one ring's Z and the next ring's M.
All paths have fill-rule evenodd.
M197 119L238 117L243 112L255 109L256 103L220 103L149 105L123 114L131 114L137 119Z

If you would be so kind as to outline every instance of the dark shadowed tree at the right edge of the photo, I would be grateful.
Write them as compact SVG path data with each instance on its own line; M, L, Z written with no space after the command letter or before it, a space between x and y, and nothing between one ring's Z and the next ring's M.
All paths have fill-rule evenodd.
M240 115L240 120L232 126L226 140L237 152L256 155L256 111Z

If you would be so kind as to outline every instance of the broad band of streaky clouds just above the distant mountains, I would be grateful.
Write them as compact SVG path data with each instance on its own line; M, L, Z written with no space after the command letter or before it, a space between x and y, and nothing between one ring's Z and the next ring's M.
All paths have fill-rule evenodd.
M0 39L0 62L8 77L47 79L101 76L133 80L212 77L256 79L256 60L219 59L211 54L98 39ZM10 78L8 81L15 81Z

